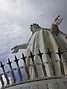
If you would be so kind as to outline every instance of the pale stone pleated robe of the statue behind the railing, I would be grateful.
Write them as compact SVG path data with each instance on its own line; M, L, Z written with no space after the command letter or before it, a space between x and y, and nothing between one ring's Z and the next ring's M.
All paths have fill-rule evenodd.
M51 59L49 55L46 54L48 52L48 48L50 51L53 52L51 54L51 59L54 64L55 75L53 75L53 70L50 63ZM64 34L61 31L55 32L45 28L41 28L39 31L36 31L33 34L24 54L25 56L27 56L27 59L26 59L27 65L32 64L32 60L29 57L30 51L35 55L34 57L35 63L41 63L41 60L39 56L37 55L38 50L40 50L42 53L44 53L43 62L45 63L44 65L46 68L47 76L48 77L62 76L60 62L59 62L60 58L58 54L56 54L58 52L58 48L60 48L60 50L63 52L61 60L63 61L64 73L65 75L67 75L67 62L65 62L67 61L67 52L65 52L67 50L67 38L66 38L66 34ZM43 73L42 66L37 65L36 67L37 67L38 77L43 78L44 73ZM36 79L34 69L32 66L29 67L29 72L30 72L31 79ZM49 89L58 89L58 86L59 86L59 89L65 89L63 85L64 84L61 81L60 83L58 83L58 85L56 83L49 83L48 87ZM31 89L45 89L45 88L42 86L40 88L36 86L31 86Z

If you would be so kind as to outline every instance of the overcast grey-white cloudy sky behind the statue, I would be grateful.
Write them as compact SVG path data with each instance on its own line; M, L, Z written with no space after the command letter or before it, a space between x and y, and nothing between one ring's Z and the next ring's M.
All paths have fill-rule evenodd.
M50 27L58 14L63 17L59 28L67 33L67 0L0 0L0 60L12 57L13 46L28 41L30 24Z

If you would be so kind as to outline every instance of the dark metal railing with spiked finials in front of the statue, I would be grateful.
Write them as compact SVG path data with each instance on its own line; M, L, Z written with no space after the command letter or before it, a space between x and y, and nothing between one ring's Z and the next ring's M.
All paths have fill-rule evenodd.
M64 51L64 52L66 53L67 51ZM60 60L54 61L54 62L59 62L59 63L60 63L61 76L62 76L62 75L65 76L65 70L64 70L64 65L63 65L63 63L64 63L64 62L67 62L67 61L62 61L62 57L61 57L61 56L62 56L62 54L63 54L64 52L61 52L60 49L58 48L58 52L56 52L56 55L59 56L59 59L60 59ZM53 63L53 60L52 60L52 55L53 55L52 53L53 53L53 52L50 51L49 48L48 48L48 50L47 50L47 52L46 52L46 55L49 56L50 62L45 62L45 63L47 63L47 64L50 63L50 64L51 64L51 67L52 67L52 70L53 70L53 75L56 76L55 67L54 67L54 63ZM14 72L15 70L18 71L18 75L19 75L19 78L20 78L19 81L23 81L23 76L22 76L23 74L22 74L21 69L25 69L26 81L27 81L27 80L28 80L28 81L31 80L31 75L30 75L30 71L29 71L29 67L30 67L30 66L32 66L33 69L34 69L34 74L35 74L36 79L38 79L37 65L41 65L41 66L42 66L42 70L43 70L44 77L48 77L47 72L46 72L46 68L45 68L45 63L43 62L43 57L42 57L43 54L44 54L44 53L41 53L40 50L38 50L38 54L36 54L36 55L40 58L41 63L35 63L35 61L34 61L34 56L35 56L35 55L34 55L31 51L30 51L30 56L29 56L29 58L30 58L30 60L32 60L32 64L27 65L27 63L26 63L26 58L27 58L27 57L25 57L23 53L22 53L22 58L21 58L21 59L18 59L18 58L16 57L16 55L15 55L14 61L10 61L10 59L8 58L8 63L7 63L7 64L3 64L2 62L0 62L0 68L1 68L2 71L3 71L3 72L0 74L0 81L1 81L2 87L5 87L5 86L4 86L4 80L3 80L3 77L2 77L3 75L4 75L4 77L5 77L6 81L7 81L7 85L6 85L6 86L10 85L10 80L9 80L9 75L8 75L8 73L10 73L11 76L12 76L12 77L11 77L12 80L13 80L12 84L15 84L15 83L17 82L17 78L16 78L16 75L15 75L15 72ZM23 60L23 62L24 62L24 65L21 66L21 67L19 66L19 60ZM12 67L12 63L14 63L14 62L15 62L15 64L16 64L17 68L13 68L13 67ZM5 65L8 65L9 68L10 68L10 70L6 71Z

